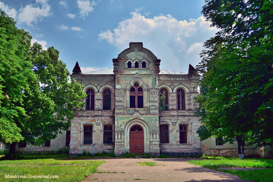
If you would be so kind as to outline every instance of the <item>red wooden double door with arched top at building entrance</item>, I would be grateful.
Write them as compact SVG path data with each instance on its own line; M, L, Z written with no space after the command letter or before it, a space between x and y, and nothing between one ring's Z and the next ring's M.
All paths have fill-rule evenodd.
M144 153L144 132L141 126L134 125L131 127L129 139L131 153Z

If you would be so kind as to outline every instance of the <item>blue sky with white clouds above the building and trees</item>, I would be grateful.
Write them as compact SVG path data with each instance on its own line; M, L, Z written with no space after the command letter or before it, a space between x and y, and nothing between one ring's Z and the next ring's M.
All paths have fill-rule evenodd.
M201 61L203 44L217 32L202 16L204 0L0 0L0 9L33 42L59 50L72 73L113 68L129 42L143 42L160 69L188 72Z

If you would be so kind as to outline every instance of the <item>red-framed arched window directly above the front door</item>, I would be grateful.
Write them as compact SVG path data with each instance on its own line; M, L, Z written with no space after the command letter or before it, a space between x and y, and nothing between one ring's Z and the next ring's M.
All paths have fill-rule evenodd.
M137 82L130 88L130 108L143 108L143 89Z

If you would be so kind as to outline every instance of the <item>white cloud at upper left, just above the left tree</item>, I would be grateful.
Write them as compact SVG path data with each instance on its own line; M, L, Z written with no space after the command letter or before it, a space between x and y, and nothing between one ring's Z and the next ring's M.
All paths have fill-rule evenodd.
M47 0L36 0L35 5L29 4L19 9L18 20L20 23L32 25L49 16L50 10L51 7L47 4Z

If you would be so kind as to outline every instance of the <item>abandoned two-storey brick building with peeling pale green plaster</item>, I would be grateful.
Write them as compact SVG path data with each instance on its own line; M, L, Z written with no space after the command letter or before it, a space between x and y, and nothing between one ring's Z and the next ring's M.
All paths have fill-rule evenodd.
M196 133L200 118L193 114L200 75L194 67L189 65L188 73L160 69L161 60L142 42L129 46L113 59L112 69L82 73L76 62L70 77L83 85L85 107L73 110L71 127L56 139L16 150L46 152L70 146L72 156L83 151L114 151L117 156L238 155L236 143L223 145L211 137L201 145ZM262 150L246 147L245 154L263 157Z

